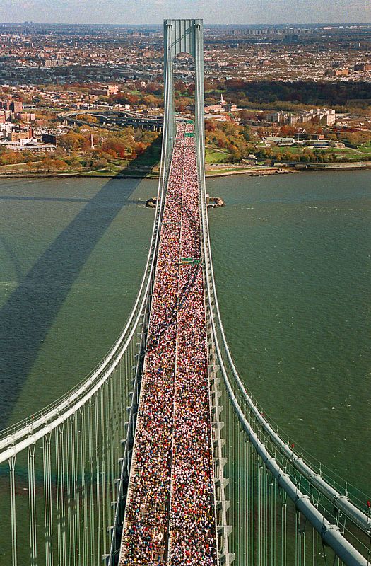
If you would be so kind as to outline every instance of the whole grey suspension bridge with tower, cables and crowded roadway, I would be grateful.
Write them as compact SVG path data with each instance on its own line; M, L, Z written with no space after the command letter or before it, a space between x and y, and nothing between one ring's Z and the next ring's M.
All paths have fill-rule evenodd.
M360 565L367 500L252 398L223 330L204 175L201 20L167 20L151 247L121 335L93 371L0 434L0 564ZM173 61L194 57L195 118Z

